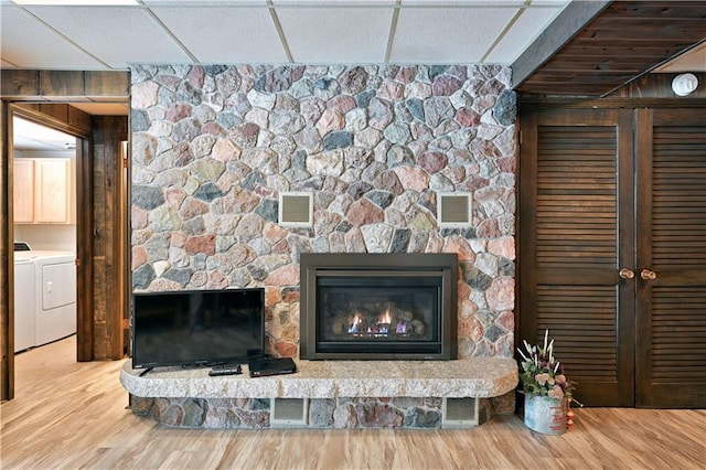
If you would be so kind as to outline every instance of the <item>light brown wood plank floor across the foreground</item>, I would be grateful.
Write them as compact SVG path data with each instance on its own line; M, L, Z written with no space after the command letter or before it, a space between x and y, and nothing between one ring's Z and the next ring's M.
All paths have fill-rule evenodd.
M127 409L121 361L75 362L75 338L15 359L2 469L703 469L706 410L584 408L563 436L496 416L464 430L173 429Z

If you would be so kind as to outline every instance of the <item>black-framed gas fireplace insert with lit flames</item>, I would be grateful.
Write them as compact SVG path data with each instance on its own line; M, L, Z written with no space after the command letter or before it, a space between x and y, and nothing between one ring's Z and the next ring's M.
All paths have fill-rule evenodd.
M301 254L300 355L457 357L456 254Z

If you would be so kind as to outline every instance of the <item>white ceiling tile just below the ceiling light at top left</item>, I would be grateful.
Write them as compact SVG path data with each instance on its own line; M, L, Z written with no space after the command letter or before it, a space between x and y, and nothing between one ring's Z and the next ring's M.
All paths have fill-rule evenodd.
M128 63L191 62L145 8L29 7L28 10L113 68L126 68Z

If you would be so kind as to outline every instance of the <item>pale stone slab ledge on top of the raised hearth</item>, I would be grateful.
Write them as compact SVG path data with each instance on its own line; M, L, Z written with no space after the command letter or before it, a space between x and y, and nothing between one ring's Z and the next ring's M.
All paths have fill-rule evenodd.
M452 361L304 361L288 375L211 377L208 367L159 367L139 376L128 360L120 371L132 395L163 398L491 398L515 388L517 363L507 357Z

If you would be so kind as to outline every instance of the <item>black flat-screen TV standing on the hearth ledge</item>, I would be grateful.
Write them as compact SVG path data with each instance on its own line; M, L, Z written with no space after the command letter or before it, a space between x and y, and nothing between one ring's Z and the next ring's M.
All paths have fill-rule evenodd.
M265 352L265 289L132 295L132 368L246 362Z

